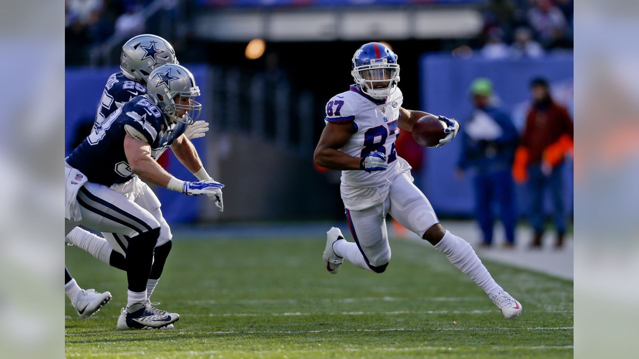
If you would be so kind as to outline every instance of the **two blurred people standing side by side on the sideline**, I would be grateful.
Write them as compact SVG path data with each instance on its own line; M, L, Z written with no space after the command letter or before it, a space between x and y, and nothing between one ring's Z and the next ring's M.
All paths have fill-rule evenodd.
M530 81L532 105L523 132L518 134L510 116L495 105L489 79L475 79L470 93L473 111L463 120L458 176L472 172L475 218L483 234L481 245L491 246L498 217L504 225L504 247L514 247L516 182L528 192L528 200L520 206L525 208L534 232L530 247L542 247L546 231L543 202L545 192L549 192L555 247L561 248L567 231L563 167L566 157L573 156L573 119L569 112L553 99L548 80L536 77ZM498 216L493 206L498 208Z

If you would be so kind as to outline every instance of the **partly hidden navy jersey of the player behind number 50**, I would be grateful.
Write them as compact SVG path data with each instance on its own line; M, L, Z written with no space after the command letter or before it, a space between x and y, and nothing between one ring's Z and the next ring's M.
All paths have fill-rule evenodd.
M98 103L95 124L100 125L122 105L135 96L142 95L146 95L146 87L137 81L128 79L121 71L109 76L104 91L102 91L100 103Z

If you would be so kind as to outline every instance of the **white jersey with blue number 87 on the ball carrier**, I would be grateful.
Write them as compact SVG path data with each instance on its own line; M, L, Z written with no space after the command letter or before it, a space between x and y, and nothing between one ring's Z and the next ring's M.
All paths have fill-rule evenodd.
M353 157L366 157L373 151L387 155L386 171L342 171L346 186L379 187L392 181L397 174L410 170L410 165L397 157L395 140L399 135L399 107L403 102L399 88L383 100L366 95L355 85L333 96L326 105L326 123L352 123L355 134L339 151Z

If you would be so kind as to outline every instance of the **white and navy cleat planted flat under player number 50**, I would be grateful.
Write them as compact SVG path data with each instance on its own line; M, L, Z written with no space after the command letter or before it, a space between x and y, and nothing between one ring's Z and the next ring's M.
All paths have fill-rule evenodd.
M148 300L135 303L122 309L118 318L118 330L128 329L173 329L173 322L178 321L180 315L153 308ZM164 328L166 327L166 328Z

